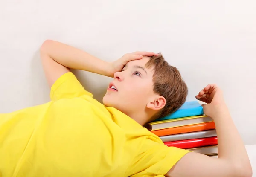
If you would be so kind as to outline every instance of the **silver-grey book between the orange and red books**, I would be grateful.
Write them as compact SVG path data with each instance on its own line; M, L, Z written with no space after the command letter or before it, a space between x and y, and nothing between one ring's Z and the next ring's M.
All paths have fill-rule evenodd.
M167 135L167 136L160 136L160 139L163 142L170 142L170 141L179 141L179 140L186 140L186 139L198 139L198 138L207 138L217 136L216 130L207 130L207 131L197 131L191 133L181 133L176 135Z

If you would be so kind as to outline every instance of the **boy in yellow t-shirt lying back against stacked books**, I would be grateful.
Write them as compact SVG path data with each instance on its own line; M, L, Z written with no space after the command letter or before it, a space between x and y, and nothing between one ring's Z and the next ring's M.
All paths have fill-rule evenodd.
M3 177L251 177L241 137L221 90L209 84L204 101L218 134L218 158L167 147L146 122L177 110L187 96L180 73L153 52L126 54L113 63L47 40L41 60L51 101L0 115ZM69 68L113 77L104 105ZM232 135L232 136L230 136Z

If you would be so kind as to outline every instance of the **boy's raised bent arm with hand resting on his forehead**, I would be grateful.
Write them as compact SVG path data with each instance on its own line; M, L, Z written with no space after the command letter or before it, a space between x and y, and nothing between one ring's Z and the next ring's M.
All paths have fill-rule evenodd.
M41 46L41 61L44 72L50 86L64 73L69 72L69 68L85 70L109 77L122 68L129 61L141 59L144 56L157 56L153 52L134 52L125 54L122 58L113 63L100 60L73 46L57 41L46 40Z

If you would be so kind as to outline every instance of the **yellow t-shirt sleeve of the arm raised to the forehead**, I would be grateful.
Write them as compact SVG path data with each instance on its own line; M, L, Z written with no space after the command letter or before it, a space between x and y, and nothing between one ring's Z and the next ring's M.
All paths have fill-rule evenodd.
M57 101L63 98L75 98L83 95L93 97L86 91L72 72L61 75L51 87L50 98Z

